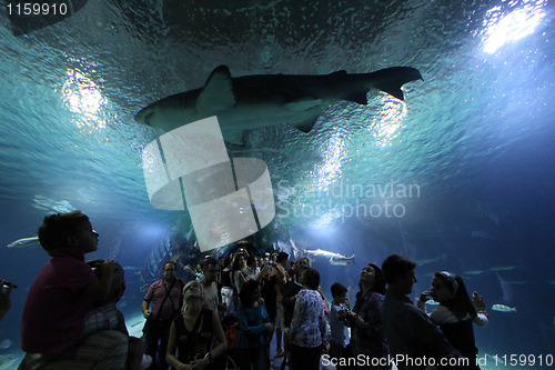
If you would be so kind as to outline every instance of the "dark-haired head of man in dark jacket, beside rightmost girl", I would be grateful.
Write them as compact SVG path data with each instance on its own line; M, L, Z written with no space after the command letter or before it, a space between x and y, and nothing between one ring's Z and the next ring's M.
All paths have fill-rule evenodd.
M382 263L382 271L390 290L410 294L416 282L414 269L416 263L400 254L392 254Z

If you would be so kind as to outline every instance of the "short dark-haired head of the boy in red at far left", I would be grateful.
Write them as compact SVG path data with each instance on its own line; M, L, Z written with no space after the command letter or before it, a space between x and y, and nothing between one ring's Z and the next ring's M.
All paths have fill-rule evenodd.
M89 217L81 211L46 217L38 236L47 252L56 248L80 248L85 253L98 249L99 234L92 229Z

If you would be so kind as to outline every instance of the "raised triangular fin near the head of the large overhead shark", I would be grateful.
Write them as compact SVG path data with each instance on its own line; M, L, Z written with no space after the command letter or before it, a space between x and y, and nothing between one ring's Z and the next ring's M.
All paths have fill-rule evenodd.
M233 81L228 67L220 66L210 73L195 107L198 112L216 112L235 107Z

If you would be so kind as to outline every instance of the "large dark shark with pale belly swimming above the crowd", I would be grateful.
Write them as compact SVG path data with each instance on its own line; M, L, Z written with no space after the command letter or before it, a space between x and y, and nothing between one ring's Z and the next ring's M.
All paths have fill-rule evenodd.
M169 132L216 116L223 139L244 146L244 130L290 124L310 132L324 108L340 101L367 104L367 92L377 89L404 100L401 87L422 79L412 67L392 67L371 73L251 74L231 77L216 67L202 88L160 99L134 117L142 124Z

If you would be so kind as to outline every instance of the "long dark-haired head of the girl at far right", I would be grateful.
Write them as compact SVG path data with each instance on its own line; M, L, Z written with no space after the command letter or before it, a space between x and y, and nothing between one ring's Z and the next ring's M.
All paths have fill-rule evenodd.
M476 308L461 277L448 271L437 271L432 279L430 291L434 301L448 308L458 318L463 318L466 313L472 317L476 316Z

